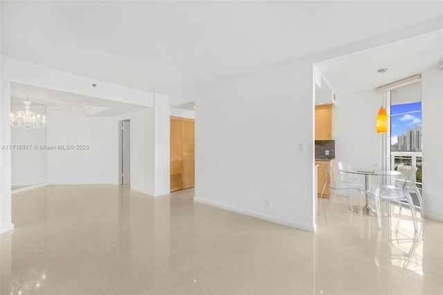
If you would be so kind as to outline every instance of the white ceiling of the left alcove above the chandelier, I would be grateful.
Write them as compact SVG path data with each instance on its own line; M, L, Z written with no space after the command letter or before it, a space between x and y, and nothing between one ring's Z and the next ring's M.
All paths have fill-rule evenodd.
M30 100L33 103L46 106L90 106L89 116L114 117L138 111L145 107L129 103L116 102L92 96L35 87L25 84L11 83L12 105L23 105L20 100ZM92 108L91 108L92 107Z

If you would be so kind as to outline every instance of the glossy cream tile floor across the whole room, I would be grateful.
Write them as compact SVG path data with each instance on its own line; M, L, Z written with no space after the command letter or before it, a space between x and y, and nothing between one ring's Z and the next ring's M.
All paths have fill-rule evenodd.
M337 196L318 208L314 234L194 203L193 193L154 199L93 185L13 195L0 293L443 294L442 222L425 219L414 234L393 213L379 231Z

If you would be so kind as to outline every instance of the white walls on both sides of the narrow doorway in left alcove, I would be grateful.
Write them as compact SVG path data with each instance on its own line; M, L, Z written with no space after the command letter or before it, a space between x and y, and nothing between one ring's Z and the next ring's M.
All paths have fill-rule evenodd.
M154 108L118 118L87 116L89 107L48 107L48 146L89 145L89 150L47 150L50 184L118 184L118 120L131 120L131 188L154 197L170 190L168 97Z

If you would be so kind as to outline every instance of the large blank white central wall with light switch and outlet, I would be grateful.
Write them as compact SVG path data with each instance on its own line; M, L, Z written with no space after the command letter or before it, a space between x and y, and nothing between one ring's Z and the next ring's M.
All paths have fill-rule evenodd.
M314 231L312 71L302 60L188 93L197 202Z

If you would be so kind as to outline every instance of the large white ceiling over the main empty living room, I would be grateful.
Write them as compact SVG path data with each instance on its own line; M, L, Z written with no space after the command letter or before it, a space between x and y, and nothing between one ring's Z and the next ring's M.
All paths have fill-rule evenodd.
M442 1L0 3L2 54L165 94L443 16Z

